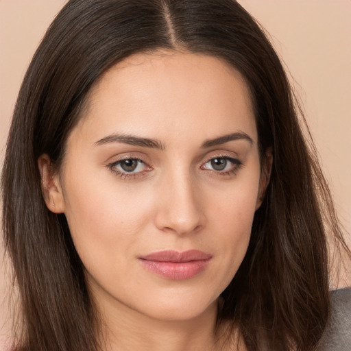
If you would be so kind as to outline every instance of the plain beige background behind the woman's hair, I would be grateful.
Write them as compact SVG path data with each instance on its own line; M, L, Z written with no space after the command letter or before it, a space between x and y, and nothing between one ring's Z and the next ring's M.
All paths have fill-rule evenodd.
M351 232L351 1L241 0L271 35L304 106L337 210ZM29 60L64 0L0 0L0 165ZM6 303L0 248L0 339ZM2 330L2 331L1 331ZM0 341L1 345L1 341ZM2 350L0 346L0 350Z

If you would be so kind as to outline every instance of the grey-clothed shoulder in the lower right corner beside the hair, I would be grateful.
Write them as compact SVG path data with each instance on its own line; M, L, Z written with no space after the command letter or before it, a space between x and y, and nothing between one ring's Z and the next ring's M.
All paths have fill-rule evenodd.
M333 290L330 294L330 321L318 350L351 350L351 287Z

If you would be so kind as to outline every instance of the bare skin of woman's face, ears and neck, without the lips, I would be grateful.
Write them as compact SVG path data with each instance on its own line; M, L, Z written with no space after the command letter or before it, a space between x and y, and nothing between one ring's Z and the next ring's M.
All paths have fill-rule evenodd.
M239 139L217 139L233 133ZM114 140L117 134L157 145L131 145ZM106 350L222 346L215 341L218 298L243 261L269 179L271 155L262 173L257 143L237 71L210 56L158 51L120 62L95 84L59 171L40 157L47 206L66 215ZM119 162L126 158L143 162L128 173ZM223 171L213 158L226 162ZM155 274L138 259L192 249L211 258L184 280Z

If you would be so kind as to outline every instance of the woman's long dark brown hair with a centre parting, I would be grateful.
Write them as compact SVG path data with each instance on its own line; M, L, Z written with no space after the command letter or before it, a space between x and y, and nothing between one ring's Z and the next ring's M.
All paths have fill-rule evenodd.
M37 160L48 154L59 168L91 86L124 58L159 48L216 56L240 71L261 158L267 147L274 153L247 254L221 294L217 322L231 321L249 350L314 350L330 312L327 234L348 249L282 64L234 0L71 0L49 27L19 93L1 182L23 315L14 350L100 350L83 265L64 215L45 205Z

